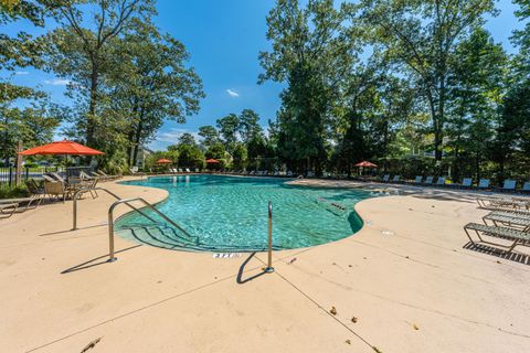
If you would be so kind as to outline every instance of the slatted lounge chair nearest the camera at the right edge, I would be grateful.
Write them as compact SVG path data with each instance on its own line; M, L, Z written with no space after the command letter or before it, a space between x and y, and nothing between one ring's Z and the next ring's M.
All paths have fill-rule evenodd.
M527 245L527 246L530 245L530 233L517 231L512 228L490 226L490 225L478 224L478 223L468 223L464 226L464 231L466 232L466 235L473 245L477 245L477 242L475 242L471 238L469 231L475 232L480 243L506 248L508 253L511 253L513 248L518 245ZM511 245L505 245L499 243L487 242L483 239L483 236L502 238L506 240L510 240L512 243Z

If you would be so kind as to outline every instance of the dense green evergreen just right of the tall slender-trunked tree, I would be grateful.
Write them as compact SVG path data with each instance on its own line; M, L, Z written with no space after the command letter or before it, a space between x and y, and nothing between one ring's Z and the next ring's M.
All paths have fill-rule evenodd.
M505 94L507 63L502 46L480 28L458 44L449 61L447 137L457 179L462 170L474 170L480 179ZM469 159L473 169L464 165Z

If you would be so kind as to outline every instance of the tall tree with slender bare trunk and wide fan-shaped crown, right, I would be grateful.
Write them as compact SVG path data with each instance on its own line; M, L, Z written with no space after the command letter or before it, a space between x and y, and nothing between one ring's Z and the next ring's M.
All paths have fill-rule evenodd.
M417 82L431 115L435 159L441 161L451 57L485 14L496 13L495 1L363 0L358 13L373 44L383 46Z

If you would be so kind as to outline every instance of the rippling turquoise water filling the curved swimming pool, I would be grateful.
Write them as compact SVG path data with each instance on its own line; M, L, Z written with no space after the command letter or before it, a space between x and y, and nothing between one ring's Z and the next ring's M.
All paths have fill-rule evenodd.
M273 244L292 249L325 244L358 232L353 205L373 196L352 189L294 186L285 179L222 175L157 176L125 182L165 189L157 205L181 229L152 211L131 212L116 222L123 237L157 247L210 252L252 252L267 246L268 201L273 202Z

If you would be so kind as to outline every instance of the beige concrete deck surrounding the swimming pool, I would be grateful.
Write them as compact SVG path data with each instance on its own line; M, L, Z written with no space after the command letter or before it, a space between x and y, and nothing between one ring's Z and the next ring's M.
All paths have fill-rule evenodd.
M71 201L0 220L0 351L530 350L530 249L507 257L469 247L463 225L487 213L477 210L476 194L296 182L402 195L357 204L359 233L276 252L276 271L263 276L266 254L216 259L119 236L118 260L105 263L114 200L103 193L80 202L75 232ZM167 195L103 185L121 197Z

